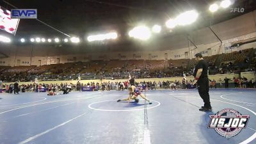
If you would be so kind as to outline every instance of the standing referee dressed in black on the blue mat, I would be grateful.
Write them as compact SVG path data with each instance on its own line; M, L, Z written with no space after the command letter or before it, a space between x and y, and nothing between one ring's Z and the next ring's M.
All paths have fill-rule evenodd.
M199 111L211 111L211 102L209 96L209 79L208 79L208 65L204 60L202 54L195 55L195 60L198 62L195 66L194 74L195 83L198 85L198 93L204 100L204 106Z

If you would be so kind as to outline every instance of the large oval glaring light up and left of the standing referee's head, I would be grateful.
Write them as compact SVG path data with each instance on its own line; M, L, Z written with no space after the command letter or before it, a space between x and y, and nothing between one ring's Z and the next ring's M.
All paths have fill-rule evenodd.
M187 24L192 24L193 22L196 21L198 17L198 13L195 10L190 10L184 13L181 13L180 15L178 15L178 17L176 17L176 22L177 24L184 26Z

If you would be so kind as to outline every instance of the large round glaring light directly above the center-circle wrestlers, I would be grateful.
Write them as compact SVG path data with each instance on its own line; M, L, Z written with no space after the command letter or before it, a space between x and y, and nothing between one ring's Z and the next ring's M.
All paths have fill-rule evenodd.
M150 29L146 26L137 26L129 31L129 36L138 38L140 40L147 40L148 38L150 38L151 33Z

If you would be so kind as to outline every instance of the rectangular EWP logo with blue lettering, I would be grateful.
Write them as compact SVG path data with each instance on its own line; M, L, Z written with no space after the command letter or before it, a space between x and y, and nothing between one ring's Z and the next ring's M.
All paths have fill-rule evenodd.
M36 9L12 9L12 19L37 19Z

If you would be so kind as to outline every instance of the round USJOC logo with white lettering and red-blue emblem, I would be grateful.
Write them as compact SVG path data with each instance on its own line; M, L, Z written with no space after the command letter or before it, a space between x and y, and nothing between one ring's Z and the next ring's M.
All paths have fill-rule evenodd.
M241 115L234 109L223 109L215 115L209 115L211 120L208 128L215 129L215 131L224 136L225 138L231 138L236 136L242 129L246 128L249 115Z

